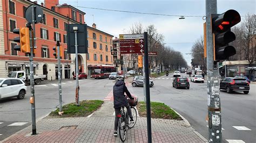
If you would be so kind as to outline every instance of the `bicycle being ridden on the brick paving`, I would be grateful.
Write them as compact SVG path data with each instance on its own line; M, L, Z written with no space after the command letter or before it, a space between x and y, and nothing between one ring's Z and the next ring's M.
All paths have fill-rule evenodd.
M131 106L132 116L134 123L130 123L129 115L127 114L127 111L125 111L124 106L121 108L121 113L117 115L119 117L118 120L118 131L119 131L119 137L124 142L127 137L127 131L129 128L134 127L137 121L137 110Z

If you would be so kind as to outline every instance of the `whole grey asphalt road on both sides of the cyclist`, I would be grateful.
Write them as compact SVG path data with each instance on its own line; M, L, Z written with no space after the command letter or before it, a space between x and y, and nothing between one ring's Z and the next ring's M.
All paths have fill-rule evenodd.
M183 76L188 76L182 74ZM167 79L168 78L168 79ZM173 75L162 76L154 80L154 86L150 88L151 101L163 102L184 116L199 133L208 139L208 127L205 121L207 115L207 87L206 83L190 82L190 89L175 89L172 87ZM80 101L84 99L103 100L112 90L114 81L103 79L79 80ZM75 102L75 80L64 81L63 105ZM256 84L251 84L251 90L248 95L236 92L235 94L226 94L221 91L221 115L223 140L242 140L245 142L256 142L256 110L255 96ZM131 87L135 95L143 101L143 88ZM35 87L36 95L36 118L42 118L59 105L58 84L57 82L37 85ZM31 105L29 103L30 89L23 100L6 99L0 101L0 141L11 134L22 130L31 124ZM21 123L20 125L16 125ZM11 126L10 126L11 125ZM249 131L237 130L233 126L244 126ZM243 128L246 129L246 128Z

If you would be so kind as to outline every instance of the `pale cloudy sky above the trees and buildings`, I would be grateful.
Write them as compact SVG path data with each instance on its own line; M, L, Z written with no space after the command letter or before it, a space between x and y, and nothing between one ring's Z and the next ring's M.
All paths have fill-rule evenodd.
M39 1L42 2L43 0ZM78 3L77 3L78 2ZM183 15L185 19L173 16L142 15L136 13L124 13L103 11L87 8L78 8L86 13L85 23L89 26L96 23L97 28L118 37L127 33L135 22L144 26L153 24L159 33L164 35L164 43L183 53L185 60L190 65L191 47L193 42L203 35L203 16L205 16L205 0L59 0L60 4L67 3L73 6L86 6L90 8L136 11L146 13L159 13L167 15ZM255 0L218 0L218 13L226 10L237 10L241 16L254 13ZM200 17L186 17L200 16ZM244 17L242 17L244 19Z

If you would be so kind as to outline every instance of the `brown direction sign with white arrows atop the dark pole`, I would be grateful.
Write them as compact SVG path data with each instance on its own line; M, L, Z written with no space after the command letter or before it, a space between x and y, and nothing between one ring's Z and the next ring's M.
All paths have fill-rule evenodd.
M132 54L144 52L143 34L121 34L119 35L120 53Z

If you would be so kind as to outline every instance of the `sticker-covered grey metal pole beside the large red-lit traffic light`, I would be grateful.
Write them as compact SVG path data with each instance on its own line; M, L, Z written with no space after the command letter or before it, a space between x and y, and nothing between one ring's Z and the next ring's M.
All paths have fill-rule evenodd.
M217 14L217 0L206 0L206 53L207 53L207 95L208 95L208 137L209 142L222 142L220 89L218 65L214 62L211 16Z

